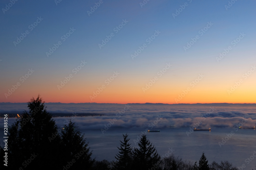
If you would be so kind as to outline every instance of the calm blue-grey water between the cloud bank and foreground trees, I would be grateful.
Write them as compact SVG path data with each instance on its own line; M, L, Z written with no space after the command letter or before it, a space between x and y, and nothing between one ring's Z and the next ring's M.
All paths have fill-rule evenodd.
M122 134L128 133L131 145L137 147L137 137L142 134L140 130L145 131L145 129L119 129L109 130L104 134L88 130L82 132L85 134L96 160L115 160L114 156L118 153L116 147L120 146L119 140L123 140ZM160 132L147 132L146 135L163 157L169 156L168 151L171 150L175 156L179 156L183 160L198 162L202 152L205 152L209 163L228 160L235 166L245 164L246 168L244 169L255 168L256 158L254 156L249 164L248 161L245 162L247 158L252 158L256 151L256 131L254 129L235 131L230 128L217 128L211 131L194 131L187 135L186 131L188 130L188 128L166 128L161 129ZM220 147L219 142L222 142L231 131L234 131L234 134L230 138L226 138L228 140Z

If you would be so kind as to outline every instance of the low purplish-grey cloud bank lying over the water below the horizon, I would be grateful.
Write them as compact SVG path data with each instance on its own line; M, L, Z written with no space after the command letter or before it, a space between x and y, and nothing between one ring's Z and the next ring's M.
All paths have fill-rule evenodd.
M27 110L26 103L0 104L0 113L19 113ZM256 125L256 104L60 104L46 103L47 110L55 113L98 113L104 116L71 117L79 129L100 130L111 128L149 128L169 127L199 128ZM69 117L55 118L58 126L63 126ZM244 123L245 122L245 123Z

